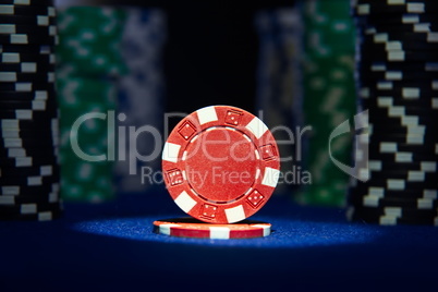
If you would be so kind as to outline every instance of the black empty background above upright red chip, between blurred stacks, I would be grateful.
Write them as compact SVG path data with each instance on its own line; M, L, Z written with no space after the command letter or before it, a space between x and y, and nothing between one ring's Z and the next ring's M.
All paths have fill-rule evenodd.
M163 9L166 112L190 113L204 106L255 110L258 10L293 7L275 1L100 1Z

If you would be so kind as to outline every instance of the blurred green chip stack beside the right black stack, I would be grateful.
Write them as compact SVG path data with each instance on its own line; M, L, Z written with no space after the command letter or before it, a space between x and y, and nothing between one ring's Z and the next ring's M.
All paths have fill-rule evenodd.
M350 166L352 134L330 141L330 134L355 112L355 27L349 0L300 2L304 25L303 169L312 182L296 199L301 204L345 206L349 177L333 162ZM300 134L300 133L297 133Z

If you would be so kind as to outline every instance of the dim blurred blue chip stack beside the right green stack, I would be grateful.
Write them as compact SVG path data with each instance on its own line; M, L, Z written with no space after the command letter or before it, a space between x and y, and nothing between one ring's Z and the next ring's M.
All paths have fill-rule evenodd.
M277 141L291 141L303 124L302 118L302 22L295 9L284 8L260 11L255 25L259 36L257 69L257 108L259 117L272 127ZM288 131L291 130L291 131ZM296 171L300 158L296 144L280 144L282 173ZM299 185L297 181L280 180L277 190ZM289 187L288 187L289 188Z

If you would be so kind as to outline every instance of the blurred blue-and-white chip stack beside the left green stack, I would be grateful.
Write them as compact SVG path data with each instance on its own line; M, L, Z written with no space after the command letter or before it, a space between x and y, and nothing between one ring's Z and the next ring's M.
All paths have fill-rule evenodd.
M158 9L126 8L121 53L127 74L119 81L118 111L125 115L119 126L126 130L125 159L117 162L119 193L141 193L155 182L142 182L142 171L150 174L160 169L159 155L163 117L162 47L166 42L166 15ZM142 169L144 168L144 169Z

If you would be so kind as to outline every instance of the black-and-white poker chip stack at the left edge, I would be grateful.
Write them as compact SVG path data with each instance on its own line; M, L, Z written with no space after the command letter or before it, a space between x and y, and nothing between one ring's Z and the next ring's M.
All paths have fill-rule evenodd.
M0 219L51 220L59 196L51 0L0 1Z

